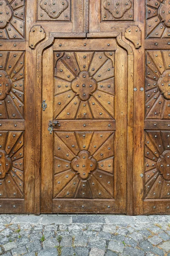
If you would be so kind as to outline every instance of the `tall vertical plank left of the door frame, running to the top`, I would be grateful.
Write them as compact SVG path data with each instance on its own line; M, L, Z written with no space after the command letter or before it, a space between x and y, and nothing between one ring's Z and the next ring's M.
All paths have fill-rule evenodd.
M25 133L25 213L34 213L35 171L35 96L36 96L36 51L28 44L29 31L35 23L36 2L26 1L26 133Z

